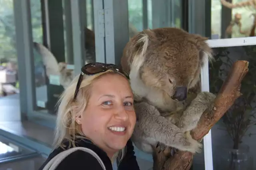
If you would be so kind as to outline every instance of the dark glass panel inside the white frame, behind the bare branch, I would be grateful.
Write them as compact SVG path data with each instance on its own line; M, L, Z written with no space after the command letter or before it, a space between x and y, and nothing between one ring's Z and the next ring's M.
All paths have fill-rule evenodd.
M210 92L218 93L236 60L249 61L249 72L241 83L242 96L212 128L214 169L253 170L256 154L256 46L214 49L216 62L209 65ZM220 152L221 150L221 152Z

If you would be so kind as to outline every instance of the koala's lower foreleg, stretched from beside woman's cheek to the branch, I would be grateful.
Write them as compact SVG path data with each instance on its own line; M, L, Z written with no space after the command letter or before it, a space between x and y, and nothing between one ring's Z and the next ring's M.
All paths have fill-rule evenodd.
M154 106L142 102L134 105L134 108L138 118L137 129L142 131L140 134L152 146L160 142L179 150L200 152L202 144L194 140L189 132L182 132L180 128L162 117Z

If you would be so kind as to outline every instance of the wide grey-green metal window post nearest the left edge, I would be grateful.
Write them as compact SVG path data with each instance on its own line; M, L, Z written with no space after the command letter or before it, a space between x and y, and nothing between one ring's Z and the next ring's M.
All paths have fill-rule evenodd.
M32 113L36 106L30 0L14 0L13 3L20 81L20 109L22 114L26 114ZM27 116L29 115L25 117Z

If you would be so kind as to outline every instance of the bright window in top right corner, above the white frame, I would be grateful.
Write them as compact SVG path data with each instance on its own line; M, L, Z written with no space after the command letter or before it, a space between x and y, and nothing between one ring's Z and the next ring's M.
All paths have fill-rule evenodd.
M256 9L248 0L212 0L212 38L255 36Z

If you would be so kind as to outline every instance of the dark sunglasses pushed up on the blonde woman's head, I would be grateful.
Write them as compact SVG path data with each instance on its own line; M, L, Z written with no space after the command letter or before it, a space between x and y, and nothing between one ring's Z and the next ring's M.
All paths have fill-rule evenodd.
M105 72L105 71L108 71L108 70L117 71L118 73L123 74L127 79L130 79L129 75L125 71L120 69L117 65L106 64L106 63L98 63L98 62L86 64L81 69L81 73L80 73L80 76L78 78L78 82L77 82L77 85L76 85L74 100L76 99L76 96L77 96L78 90L80 88L80 85L82 83L82 79L83 79L84 74L85 75L94 75L94 74L102 73L102 72Z

